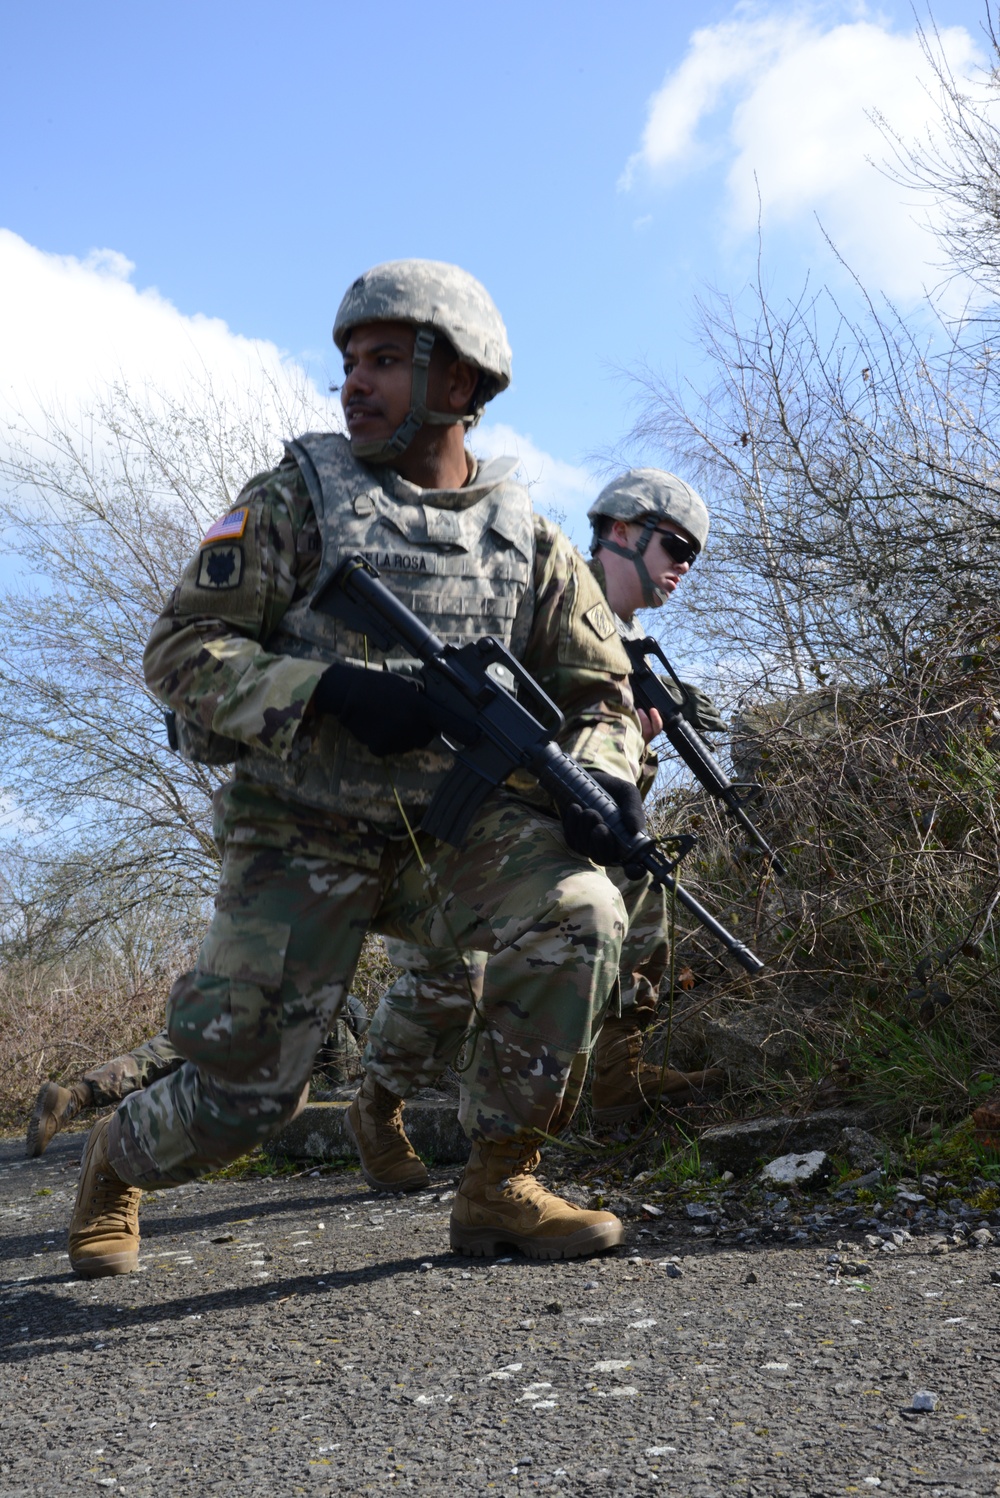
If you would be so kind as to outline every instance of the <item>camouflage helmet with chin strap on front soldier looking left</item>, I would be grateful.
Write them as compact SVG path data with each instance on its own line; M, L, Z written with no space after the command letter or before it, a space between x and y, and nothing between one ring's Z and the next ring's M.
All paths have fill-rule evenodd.
M409 322L416 328L410 409L385 442L352 442L356 457L389 463L406 452L422 425L475 427L488 400L510 383L507 330L487 288L443 261L386 261L353 282L337 309L334 343L344 351L365 322ZM449 340L460 358L479 370L473 409L455 416L427 409L427 372L434 339Z

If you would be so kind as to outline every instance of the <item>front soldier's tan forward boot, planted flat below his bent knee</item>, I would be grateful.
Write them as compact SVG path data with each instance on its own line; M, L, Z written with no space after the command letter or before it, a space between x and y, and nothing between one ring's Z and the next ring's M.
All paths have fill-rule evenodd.
M611 1212L585 1212L542 1186L539 1153L524 1140L473 1143L455 1195L451 1243L458 1254L519 1248L528 1258L582 1258L614 1248L624 1228Z

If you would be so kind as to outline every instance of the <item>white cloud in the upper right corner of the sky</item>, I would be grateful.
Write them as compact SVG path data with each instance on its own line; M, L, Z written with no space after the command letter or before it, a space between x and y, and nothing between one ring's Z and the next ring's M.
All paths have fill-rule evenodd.
M621 186L641 171L671 181L723 162L735 237L754 234L757 214L765 229L819 216L862 279L915 297L937 279L939 252L922 228L927 205L873 165L889 150L870 115L880 112L903 139L922 136L937 118L937 84L915 30L853 15L837 24L826 6L740 6L695 31L650 103ZM942 30L939 42L958 78L979 64L964 27Z

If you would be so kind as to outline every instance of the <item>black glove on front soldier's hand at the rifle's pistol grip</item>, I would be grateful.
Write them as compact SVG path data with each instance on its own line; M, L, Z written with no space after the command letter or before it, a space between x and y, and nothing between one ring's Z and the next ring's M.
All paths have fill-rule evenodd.
M313 694L313 707L340 719L380 759L424 749L439 733L469 740L461 722L428 703L419 682L400 671L331 665Z

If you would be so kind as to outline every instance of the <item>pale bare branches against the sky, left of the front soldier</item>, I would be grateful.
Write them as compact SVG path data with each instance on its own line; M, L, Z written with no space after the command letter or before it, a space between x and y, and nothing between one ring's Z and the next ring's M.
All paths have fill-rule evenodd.
M184 403L115 386L9 434L0 523L21 581L0 596L0 804L51 942L154 906L184 924L211 894L225 774L169 750L142 650L205 524L317 416L305 386L241 404L207 382Z

